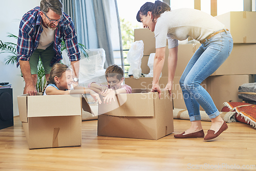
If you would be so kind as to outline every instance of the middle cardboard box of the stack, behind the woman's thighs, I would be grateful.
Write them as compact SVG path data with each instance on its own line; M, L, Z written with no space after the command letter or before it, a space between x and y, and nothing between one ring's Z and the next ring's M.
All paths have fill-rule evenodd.
M187 63L200 46L201 44L179 45L178 62L175 71L176 77L180 77L182 75ZM214 73L211 74L211 76L256 74L255 66L256 44L234 44L230 56ZM164 67L167 66L164 65ZM164 68L163 70L168 70L168 68Z

